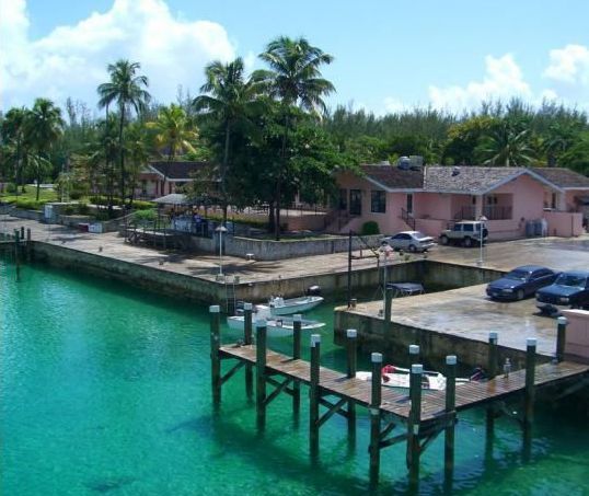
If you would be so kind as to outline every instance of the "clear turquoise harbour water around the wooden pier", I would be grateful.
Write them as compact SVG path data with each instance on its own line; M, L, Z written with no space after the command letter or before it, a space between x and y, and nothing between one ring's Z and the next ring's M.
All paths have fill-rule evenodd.
M316 463L304 390L299 422L281 395L258 435L240 372L213 413L206 305L39 266L14 275L0 262L1 495L369 492L365 411L356 446L344 419L322 427ZM312 316L332 321L328 305ZM327 327L322 364L343 369ZM493 452L484 425L481 411L460 418L453 494L589 494L588 418L574 402L539 408L526 463L515 424L497 420ZM440 436L421 458L421 494L442 494L442 452ZM382 451L380 494L406 492L404 460L404 445Z

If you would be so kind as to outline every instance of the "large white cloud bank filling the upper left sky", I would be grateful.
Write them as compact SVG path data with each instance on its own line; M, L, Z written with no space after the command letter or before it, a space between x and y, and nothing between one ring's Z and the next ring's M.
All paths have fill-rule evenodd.
M0 2L0 107L30 105L37 96L58 104L67 96L96 102L118 59L141 64L153 97L174 101L178 84L198 89L210 60L234 58L226 30L208 21L172 15L164 0L115 0L105 13L28 39L25 0Z

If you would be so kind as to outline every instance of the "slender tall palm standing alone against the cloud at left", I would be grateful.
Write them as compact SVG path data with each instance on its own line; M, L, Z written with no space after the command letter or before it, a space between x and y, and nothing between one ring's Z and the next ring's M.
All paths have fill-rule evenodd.
M125 148L123 146L123 129L125 128L125 117L132 108L137 114L142 112L151 100L147 88L149 85L146 76L136 76L141 68L139 62L129 62L128 60L118 60L109 64L107 67L111 74L111 81L99 86L99 107L106 108L116 102L118 107L118 160L120 173L120 197L125 201Z

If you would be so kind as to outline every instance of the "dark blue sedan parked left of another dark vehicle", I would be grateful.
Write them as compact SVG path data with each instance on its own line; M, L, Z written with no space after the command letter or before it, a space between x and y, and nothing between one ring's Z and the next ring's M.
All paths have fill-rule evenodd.
M539 265L522 265L489 282L487 295L494 300L523 300L540 288L552 285L558 273Z

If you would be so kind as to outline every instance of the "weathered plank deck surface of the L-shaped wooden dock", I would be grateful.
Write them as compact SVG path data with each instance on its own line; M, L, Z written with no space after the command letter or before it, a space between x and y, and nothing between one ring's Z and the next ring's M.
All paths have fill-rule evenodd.
M222 358L234 358L252 366L256 365L255 345L226 345L219 349ZM556 385L575 377L589 372L589 365L561 361L536 367L534 385L540 389L545 385ZM280 374L291 380L309 385L311 382L311 364L293 359L276 351L266 351L266 373ZM326 395L333 394L369 407L371 383L356 378L348 378L343 372L320 367L320 388ZM485 382L467 382L457 385L457 412L483 406L509 396L523 394L526 388L526 370L511 372L508 378L496 377ZM421 397L421 423L436 420L444 415L446 393L443 391L427 391ZM408 390L384 387L382 389L383 414L393 415L406 420L409 417L411 397Z

